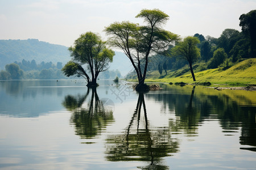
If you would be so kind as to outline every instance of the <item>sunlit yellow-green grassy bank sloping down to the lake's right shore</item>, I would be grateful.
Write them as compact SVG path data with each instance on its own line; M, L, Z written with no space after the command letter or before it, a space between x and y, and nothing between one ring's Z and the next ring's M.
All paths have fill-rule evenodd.
M210 69L198 71L195 73L196 82L193 82L190 71L185 71L187 72L177 77L175 77L177 71L168 71L168 74L163 78L159 78L160 74L158 71L152 71L147 73L146 82L210 82L212 84L220 84L220 86L247 86L247 84L256 84L256 58L246 59L226 70ZM182 73L182 71L180 72Z

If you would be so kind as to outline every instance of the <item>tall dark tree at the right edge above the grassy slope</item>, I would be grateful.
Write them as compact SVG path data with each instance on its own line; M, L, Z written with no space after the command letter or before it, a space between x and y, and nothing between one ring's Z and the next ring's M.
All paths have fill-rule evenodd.
M242 32L250 37L251 56L256 57L256 10L242 14L239 19Z

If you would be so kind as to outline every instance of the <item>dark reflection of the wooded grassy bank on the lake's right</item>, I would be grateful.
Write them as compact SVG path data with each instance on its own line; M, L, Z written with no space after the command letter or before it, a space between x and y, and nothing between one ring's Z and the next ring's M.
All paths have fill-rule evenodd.
M255 101L250 99L254 92L249 95L247 91L214 91L200 87L197 92L193 87L191 92L189 86L184 89L165 84L162 88L173 92L146 94L146 97L162 101L164 108L168 106L170 111L175 111L179 121L170 121L170 124L177 124L176 131L184 130L188 136L194 136L197 126L204 121L218 120L224 135L232 135L241 129L240 144L245 146L241 149L256 151L256 107L253 105Z

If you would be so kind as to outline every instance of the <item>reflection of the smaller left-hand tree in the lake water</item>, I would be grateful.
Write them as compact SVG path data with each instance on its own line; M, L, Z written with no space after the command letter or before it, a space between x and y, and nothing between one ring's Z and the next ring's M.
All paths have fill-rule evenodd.
M91 97L86 100L91 92ZM72 111L71 123L75 125L76 135L82 139L95 138L113 124L113 105L101 101L96 88L88 88L85 95L65 96L63 105Z

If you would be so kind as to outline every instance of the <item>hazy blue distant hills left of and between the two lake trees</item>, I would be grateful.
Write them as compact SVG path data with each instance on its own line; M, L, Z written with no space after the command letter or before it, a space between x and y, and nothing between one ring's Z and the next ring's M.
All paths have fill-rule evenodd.
M36 63L62 62L63 66L71 57L67 46L50 44L49 42L39 41L38 39L27 40L0 40L0 70L5 69L5 65L14 61L21 62L22 59ZM110 63L109 70L119 70L125 76L132 66L129 59L121 52L115 52L113 62Z

